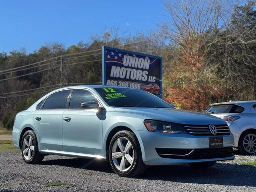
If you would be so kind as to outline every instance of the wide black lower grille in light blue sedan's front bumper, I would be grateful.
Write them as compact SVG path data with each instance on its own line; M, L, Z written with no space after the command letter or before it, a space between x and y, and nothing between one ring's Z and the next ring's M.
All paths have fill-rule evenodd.
M177 151L180 150L181 152ZM182 151L183 150L183 151ZM232 147L212 148L212 149L170 149L170 148L156 148L157 154L162 158L171 159L213 159L225 158L234 155ZM186 153L188 152L188 153Z

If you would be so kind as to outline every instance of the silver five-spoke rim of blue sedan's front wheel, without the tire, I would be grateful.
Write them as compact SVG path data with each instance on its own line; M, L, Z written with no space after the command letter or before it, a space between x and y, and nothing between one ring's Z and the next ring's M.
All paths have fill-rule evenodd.
M134 149L128 138L119 137L112 147L112 160L121 172L129 170L134 162Z

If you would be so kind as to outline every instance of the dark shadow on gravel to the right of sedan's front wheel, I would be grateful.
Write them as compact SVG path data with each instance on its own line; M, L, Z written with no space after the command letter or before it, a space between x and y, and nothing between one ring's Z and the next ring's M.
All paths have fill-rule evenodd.
M256 186L256 166L216 163L205 169L188 165L149 167L140 179L172 182Z

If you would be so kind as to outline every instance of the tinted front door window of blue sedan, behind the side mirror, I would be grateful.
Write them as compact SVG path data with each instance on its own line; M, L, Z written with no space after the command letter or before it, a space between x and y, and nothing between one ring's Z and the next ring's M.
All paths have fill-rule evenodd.
M94 96L88 91L84 89L75 89L72 93L69 108L70 109L82 109L81 104L83 102L95 101L97 100Z

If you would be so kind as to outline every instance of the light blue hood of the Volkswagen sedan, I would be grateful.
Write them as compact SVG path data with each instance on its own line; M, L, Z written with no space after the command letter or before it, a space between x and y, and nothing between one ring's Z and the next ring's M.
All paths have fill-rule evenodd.
M148 119L174 122L180 124L227 124L212 115L173 108L115 108L116 112L142 115Z

